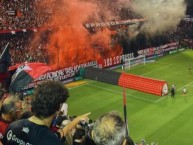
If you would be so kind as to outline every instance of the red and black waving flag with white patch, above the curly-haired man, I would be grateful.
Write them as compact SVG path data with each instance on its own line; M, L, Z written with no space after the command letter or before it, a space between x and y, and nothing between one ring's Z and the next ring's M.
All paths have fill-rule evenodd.
M40 62L23 63L18 66L16 72L12 76L10 92L19 92L34 79L42 74L50 71L51 68Z

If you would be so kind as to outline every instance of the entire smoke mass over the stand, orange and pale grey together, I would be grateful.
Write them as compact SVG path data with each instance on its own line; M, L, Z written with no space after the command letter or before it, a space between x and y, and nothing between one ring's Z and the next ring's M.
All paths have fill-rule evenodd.
M185 15L184 0L44 0L38 7L51 5L53 11L49 22L43 27L51 27L48 41L50 64L64 68L92 60L121 55L123 49L112 40L112 31L103 28L86 28L87 23L108 22L127 19L132 8L147 19L141 30L155 34L175 29L180 18ZM45 7L47 9L47 7ZM48 8L49 9L49 8ZM120 11L123 11L120 13ZM138 25L133 25L138 28ZM138 32L132 31L129 37ZM118 33L121 33L118 32ZM36 41L39 37L36 37ZM112 45L113 44L113 45Z

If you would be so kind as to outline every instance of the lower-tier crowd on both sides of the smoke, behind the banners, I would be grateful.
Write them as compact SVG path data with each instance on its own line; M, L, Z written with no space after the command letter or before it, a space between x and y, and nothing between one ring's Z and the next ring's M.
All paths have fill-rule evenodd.
M139 33L135 40L127 37L120 37L119 43L124 50L136 50L157 47L166 43L179 41L182 44L185 43L187 47L193 46L193 22L182 22L175 32L163 33L162 35L147 38L144 33ZM49 45L47 44L50 32L45 31L42 33L41 40L34 42L33 37L35 33L30 32L18 32L17 34L0 34L0 54L3 51L7 43L9 43L12 65L17 63L28 62L44 62L49 63L49 55L46 51ZM167 35L166 35L167 34ZM115 38L112 37L113 39ZM116 38L117 39L117 38ZM32 45L33 44L33 45ZM125 45L128 44L128 45ZM127 53L128 51L125 51Z

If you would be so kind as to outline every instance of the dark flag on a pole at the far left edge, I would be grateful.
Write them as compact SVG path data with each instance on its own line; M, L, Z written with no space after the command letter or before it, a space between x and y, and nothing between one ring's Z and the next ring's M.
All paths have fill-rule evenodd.
M0 56L0 73L6 73L9 66L11 66L11 56L9 53L9 43L5 46Z

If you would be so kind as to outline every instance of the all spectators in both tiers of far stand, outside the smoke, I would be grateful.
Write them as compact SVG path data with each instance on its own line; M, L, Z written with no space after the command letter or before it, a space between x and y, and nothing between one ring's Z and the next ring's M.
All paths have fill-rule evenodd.
M42 3L42 1L43 0L0 1L0 53L9 42L12 65L25 61L48 63L49 56L46 50L49 47L47 44L50 34L49 30L45 30L39 42L34 42L33 39L36 33L33 29L39 28L48 22L52 14L54 1L51 3ZM100 5L102 1L98 3L98 5ZM107 2L105 4L114 8L112 11L114 11L121 20L141 18L140 15L132 12L131 9L116 8ZM123 52L128 53L130 50L133 51L133 48L140 50L174 41L183 42L182 40L184 39L188 40L189 44L192 44L192 30L192 21L182 21L175 32L166 32L158 36L149 37L144 33L139 33L133 40L127 35L129 29L125 31L123 27L119 26L116 27L115 31L117 31L117 35L114 36L118 37L118 43L122 45ZM113 40L115 38L114 36L112 37Z

